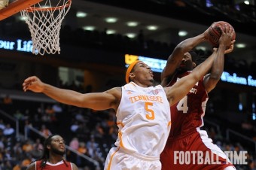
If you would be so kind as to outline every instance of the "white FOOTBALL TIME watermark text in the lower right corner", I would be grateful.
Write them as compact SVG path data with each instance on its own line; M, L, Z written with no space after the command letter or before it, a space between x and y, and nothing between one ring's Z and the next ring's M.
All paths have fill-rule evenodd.
M233 165L247 165L247 153L247 151L224 151L224 154L200 150L174 151L174 164L218 165L232 163Z

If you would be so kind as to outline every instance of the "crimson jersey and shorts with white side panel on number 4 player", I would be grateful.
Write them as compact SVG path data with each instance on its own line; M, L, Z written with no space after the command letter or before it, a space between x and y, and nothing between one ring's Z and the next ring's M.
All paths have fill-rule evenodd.
M176 74L168 86L172 86L181 77L190 74L187 71L183 74ZM207 132L201 130L203 116L205 114L208 94L203 86L203 79L197 82L194 87L178 103L171 107L172 127L168 141L160 155L162 170L189 169L189 170L223 170L233 167L225 153L212 143ZM191 153L192 151L203 153L203 160L207 158L210 162L200 163L198 155L190 156L189 160L195 162L183 163L175 153ZM218 160L218 163L216 163Z

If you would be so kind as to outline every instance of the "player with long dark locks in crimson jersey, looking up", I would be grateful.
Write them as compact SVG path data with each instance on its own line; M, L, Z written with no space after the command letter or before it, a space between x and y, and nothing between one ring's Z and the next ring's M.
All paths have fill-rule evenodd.
M26 170L78 170L77 165L63 159L66 152L65 141L60 135L50 135L44 141L41 159L32 162Z

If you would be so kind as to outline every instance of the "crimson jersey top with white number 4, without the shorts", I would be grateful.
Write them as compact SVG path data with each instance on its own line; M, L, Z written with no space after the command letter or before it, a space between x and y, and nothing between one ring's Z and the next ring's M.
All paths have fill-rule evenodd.
M181 77L190 74L190 72L175 74L168 86L172 86ZM201 79L187 93L187 96L184 96L183 99L172 105L172 128L169 138L181 137L192 131L196 131L197 127L203 126L203 116L205 114L207 100L208 94L203 86L203 79Z

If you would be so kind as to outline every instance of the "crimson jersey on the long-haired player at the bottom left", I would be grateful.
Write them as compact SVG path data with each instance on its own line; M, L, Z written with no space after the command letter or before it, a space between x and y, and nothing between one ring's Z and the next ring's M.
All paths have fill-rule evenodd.
M41 160L38 160L35 162L35 170L41 170L42 168L40 167L41 165ZM47 162L46 165L43 168L44 170L72 170L72 165L71 162L67 161L60 161L57 162L56 164L52 164L50 162Z

